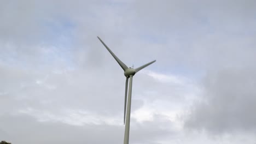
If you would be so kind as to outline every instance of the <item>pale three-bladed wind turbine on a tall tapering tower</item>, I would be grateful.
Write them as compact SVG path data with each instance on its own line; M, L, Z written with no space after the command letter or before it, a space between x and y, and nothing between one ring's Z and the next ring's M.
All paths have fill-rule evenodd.
M108 48L108 46L99 37L97 37L97 38L101 41L101 43L106 47L106 49L114 57L115 61L117 61L118 64L121 66L121 68L124 70L124 75L126 77L126 81L125 81L125 105L124 105L124 124L125 124L124 144L129 144L132 77L136 73L138 73L139 70L147 67L148 65L154 63L155 61L152 61L152 62L149 62L147 64L144 64L141 67L138 67L136 69L133 69L131 67L128 68L127 65L125 65L117 56L115 56L115 54ZM128 92L128 101L127 101L127 87L128 87L128 80L129 80L129 78L130 78L130 83L129 83L129 92ZM126 103L127 103L127 109L126 109ZM127 113L126 113L126 110L127 110ZM125 119L125 116L126 116L126 119Z

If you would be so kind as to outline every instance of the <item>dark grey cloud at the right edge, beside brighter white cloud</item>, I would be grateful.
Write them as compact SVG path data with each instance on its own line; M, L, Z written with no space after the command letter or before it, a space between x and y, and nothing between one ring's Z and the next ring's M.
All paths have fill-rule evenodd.
M186 127L216 134L256 130L254 68L226 68L207 75L202 103L195 103Z

